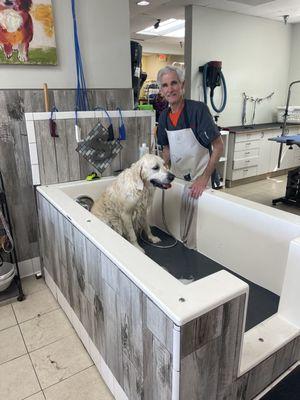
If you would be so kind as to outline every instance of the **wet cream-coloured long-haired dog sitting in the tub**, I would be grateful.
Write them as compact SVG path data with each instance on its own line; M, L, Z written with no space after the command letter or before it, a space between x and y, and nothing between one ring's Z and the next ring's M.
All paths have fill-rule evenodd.
M144 252L138 244L142 233L152 243L160 241L148 223L155 188L170 188L174 177L160 157L145 154L106 188L91 212Z

